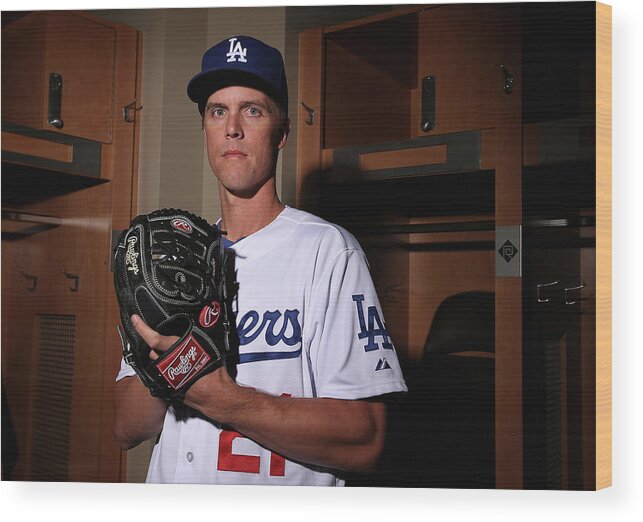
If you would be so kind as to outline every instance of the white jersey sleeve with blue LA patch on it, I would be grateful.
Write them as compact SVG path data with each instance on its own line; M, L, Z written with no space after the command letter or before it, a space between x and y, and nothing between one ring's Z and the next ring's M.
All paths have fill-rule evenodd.
M315 282L309 312L304 343L318 397L362 399L407 390L360 249L343 250L330 263Z

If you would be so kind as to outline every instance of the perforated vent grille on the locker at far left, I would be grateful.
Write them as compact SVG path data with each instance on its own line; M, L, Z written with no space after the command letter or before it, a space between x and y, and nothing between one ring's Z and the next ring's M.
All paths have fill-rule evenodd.
M76 317L39 315L37 325L32 477L47 482L66 481Z

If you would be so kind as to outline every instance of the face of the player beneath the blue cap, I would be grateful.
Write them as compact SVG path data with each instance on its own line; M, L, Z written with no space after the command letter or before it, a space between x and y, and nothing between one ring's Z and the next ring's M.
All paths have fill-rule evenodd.
M203 117L208 161L224 188L252 197L274 176L287 128L275 103L249 87L226 87L209 98Z

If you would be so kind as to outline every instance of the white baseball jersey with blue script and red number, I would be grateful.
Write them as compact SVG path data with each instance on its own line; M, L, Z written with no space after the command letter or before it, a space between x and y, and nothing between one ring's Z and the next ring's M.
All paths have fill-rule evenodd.
M237 382L273 395L406 391L366 258L341 227L286 207L230 247L239 283ZM133 375L125 364L118 379ZM168 409L148 482L343 485L184 406Z

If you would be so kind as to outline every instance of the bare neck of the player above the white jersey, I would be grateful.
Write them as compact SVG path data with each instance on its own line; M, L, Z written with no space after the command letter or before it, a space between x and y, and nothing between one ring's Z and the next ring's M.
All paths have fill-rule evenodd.
M219 191L221 200L221 229L230 241L249 236L272 223L284 209L277 194L258 192L252 198L238 198Z

